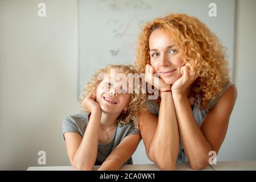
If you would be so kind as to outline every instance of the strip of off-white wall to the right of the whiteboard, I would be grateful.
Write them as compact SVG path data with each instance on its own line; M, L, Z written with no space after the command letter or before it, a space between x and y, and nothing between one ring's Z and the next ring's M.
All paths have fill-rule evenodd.
M256 160L256 1L238 0L234 80L237 102L217 160Z

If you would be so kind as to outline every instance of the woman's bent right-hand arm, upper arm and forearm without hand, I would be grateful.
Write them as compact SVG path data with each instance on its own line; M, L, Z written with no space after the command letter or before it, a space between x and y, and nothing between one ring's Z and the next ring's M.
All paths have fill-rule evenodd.
M199 127L187 96L173 93L181 142L191 168L205 168L209 164L209 151L218 153L228 129L236 97L236 86L230 86L213 109L205 115Z

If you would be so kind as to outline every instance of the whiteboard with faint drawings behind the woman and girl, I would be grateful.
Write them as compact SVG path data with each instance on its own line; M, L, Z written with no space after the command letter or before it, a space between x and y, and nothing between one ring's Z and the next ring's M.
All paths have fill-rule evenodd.
M210 3L216 3L217 16L209 16ZM235 0L79 0L78 96L96 69L108 64L134 64L141 25L170 13L196 16L207 24L228 48L233 76ZM151 163L142 143L133 159L134 164Z

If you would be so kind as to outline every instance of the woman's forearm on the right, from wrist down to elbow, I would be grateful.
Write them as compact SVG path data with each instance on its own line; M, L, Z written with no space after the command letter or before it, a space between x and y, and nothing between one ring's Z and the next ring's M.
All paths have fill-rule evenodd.
M204 168L208 164L208 154L212 147L193 117L187 96L174 94L173 98L180 138L185 154L188 156L192 168Z

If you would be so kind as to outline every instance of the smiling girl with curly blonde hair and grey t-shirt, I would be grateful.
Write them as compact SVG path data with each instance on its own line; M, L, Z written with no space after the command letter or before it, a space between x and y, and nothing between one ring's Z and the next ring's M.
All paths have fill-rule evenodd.
M118 77L120 73L123 79ZM137 114L146 100L146 94L134 92L141 82L130 84L128 79L136 73L131 65L109 65L98 70L83 89L81 113L63 121L67 152L75 169L101 165L100 170L117 170L123 164L133 164L131 155L141 140Z

